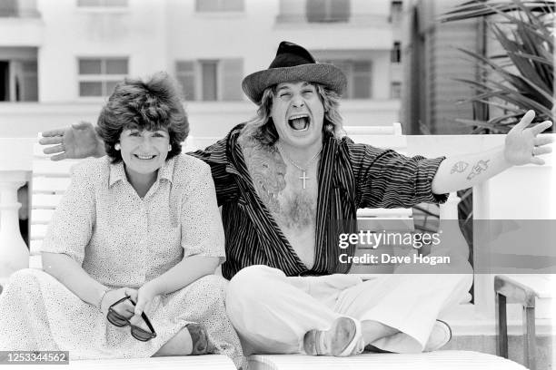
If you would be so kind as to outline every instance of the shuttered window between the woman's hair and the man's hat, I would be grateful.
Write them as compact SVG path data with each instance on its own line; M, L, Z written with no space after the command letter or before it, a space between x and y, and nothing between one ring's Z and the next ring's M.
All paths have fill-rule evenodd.
M242 59L197 60L176 62L176 78L189 101L243 100Z

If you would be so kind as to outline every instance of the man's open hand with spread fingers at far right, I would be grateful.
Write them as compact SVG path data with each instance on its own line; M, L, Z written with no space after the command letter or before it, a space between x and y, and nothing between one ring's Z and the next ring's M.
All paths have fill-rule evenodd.
M506 135L504 146L504 158L511 165L519 166L522 164L544 164L544 160L538 156L552 152L552 148L546 146L554 141L549 136L538 137L539 133L551 127L552 122L545 121L534 127L527 128L535 118L535 112L525 113L521 121L513 126Z

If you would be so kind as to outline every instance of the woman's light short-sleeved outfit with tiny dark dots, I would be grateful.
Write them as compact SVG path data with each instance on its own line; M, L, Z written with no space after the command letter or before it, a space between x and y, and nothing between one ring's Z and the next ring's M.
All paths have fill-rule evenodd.
M141 199L124 164L104 157L75 169L56 209L43 251L64 253L107 287L139 288L182 258L224 259L223 226L210 168L182 154L165 162ZM239 339L225 313L227 281L202 277L156 297L147 316L157 336L140 342L129 327L108 323L42 270L16 272L0 295L0 350L65 350L70 357L147 357L189 323L204 325L218 352L243 365Z

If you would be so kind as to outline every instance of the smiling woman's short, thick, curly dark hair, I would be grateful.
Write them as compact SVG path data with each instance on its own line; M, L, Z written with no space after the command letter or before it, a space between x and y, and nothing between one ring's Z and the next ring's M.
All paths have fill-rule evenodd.
M182 141L189 133L189 122L178 83L167 73L155 73L146 79L126 78L118 83L101 111L97 134L113 163L122 161L114 146L124 130L166 130L172 150L166 160L182 152Z

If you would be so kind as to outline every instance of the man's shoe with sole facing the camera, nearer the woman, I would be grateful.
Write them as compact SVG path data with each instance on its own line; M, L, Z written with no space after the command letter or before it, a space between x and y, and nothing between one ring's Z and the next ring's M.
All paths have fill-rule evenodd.
M355 355L363 346L361 323L347 316L336 318L328 330L309 330L303 336L307 355Z

